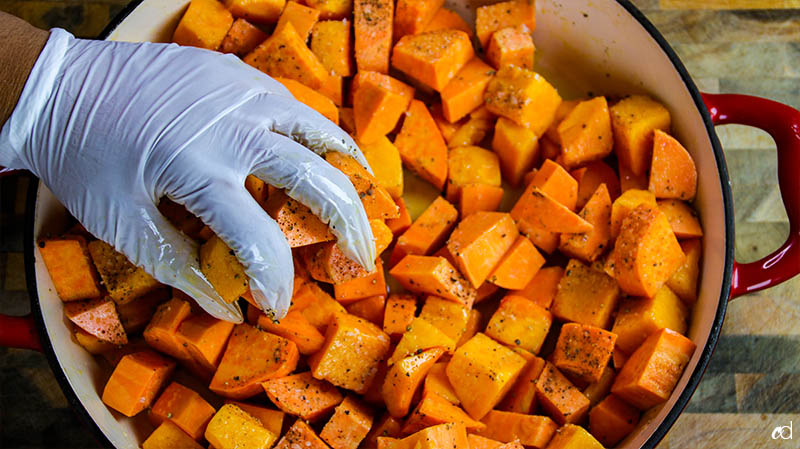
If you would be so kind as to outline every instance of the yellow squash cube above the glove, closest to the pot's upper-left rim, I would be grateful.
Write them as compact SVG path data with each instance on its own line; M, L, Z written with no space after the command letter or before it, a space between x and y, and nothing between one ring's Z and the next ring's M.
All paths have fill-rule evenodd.
M172 42L216 50L233 24L231 12L216 0L192 0L178 22Z

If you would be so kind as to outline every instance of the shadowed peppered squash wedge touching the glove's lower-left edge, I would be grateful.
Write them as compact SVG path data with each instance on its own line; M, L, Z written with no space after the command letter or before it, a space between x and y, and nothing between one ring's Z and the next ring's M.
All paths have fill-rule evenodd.
M132 264L108 243L95 240L88 244L88 249L103 285L114 302L124 304L133 301L161 286L142 267Z

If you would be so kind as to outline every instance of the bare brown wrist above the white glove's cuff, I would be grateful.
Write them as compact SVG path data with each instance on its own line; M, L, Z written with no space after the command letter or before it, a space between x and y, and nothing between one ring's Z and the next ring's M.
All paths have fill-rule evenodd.
M17 105L49 33L0 12L0 126Z

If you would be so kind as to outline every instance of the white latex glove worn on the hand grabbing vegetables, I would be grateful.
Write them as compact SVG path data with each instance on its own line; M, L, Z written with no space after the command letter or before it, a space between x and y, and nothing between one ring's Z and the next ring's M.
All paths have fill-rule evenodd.
M248 174L286 189L331 225L346 255L374 267L364 208L349 179L314 154L326 151L368 167L344 131L234 56L58 29L0 132L0 165L36 174L89 232L235 322L241 310L200 272L197 243L156 204L167 196L208 224L245 266L253 298L282 317L292 254L244 188Z

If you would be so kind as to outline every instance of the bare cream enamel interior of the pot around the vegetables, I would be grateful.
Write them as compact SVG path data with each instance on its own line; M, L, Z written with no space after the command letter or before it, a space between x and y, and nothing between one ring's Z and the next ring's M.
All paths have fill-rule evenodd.
M474 8L491 1L447 1L470 23ZM168 42L188 0L145 0L111 33L117 41ZM699 171L697 208L705 230L699 300L694 307L689 337L697 344L676 392L695 371L717 313L725 266L725 210L718 167L702 116L679 73L658 43L613 0L538 0L537 70L565 98L646 93L672 113L673 133L692 153ZM65 229L68 214L44 187L39 187L35 210L36 239ZM136 448L151 428L144 416L135 420L112 413L100 401L106 368L75 343L61 301L47 270L36 257L36 283L47 337L58 363L78 399L100 430L118 448ZM644 425L620 447L640 447L655 431L678 395L643 417ZM144 415L144 414L142 414Z

